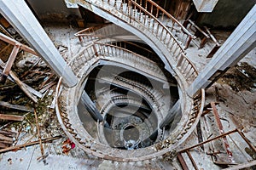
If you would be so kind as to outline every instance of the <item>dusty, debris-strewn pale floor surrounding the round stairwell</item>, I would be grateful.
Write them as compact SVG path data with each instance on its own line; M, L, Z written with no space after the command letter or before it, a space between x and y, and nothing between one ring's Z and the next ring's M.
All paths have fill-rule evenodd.
M73 36L77 29L71 29L67 26L45 26L45 31L49 37L55 42L55 46L60 50L65 59L70 59L71 56L79 51L79 40ZM217 37L227 37L225 32L218 32ZM221 40L223 42L224 39ZM209 51L208 48L197 49L195 45L191 45L187 49L189 59L191 59L197 68L201 71L210 59L206 59ZM194 47L193 47L194 46ZM26 63L33 63L37 59L30 58L27 61L24 56L17 59L15 70L18 67L24 66ZM25 61L26 62L25 62ZM28 59L29 60L29 59ZM18 62L19 61L19 62ZM45 65L43 67L44 71ZM23 68L24 69L24 68ZM40 70L42 71L42 70ZM256 146L256 49L247 55L234 68L231 68L224 77L214 83L211 88L206 91L207 103L219 102L218 113L221 117L221 122L224 126L224 132L228 132L235 128L242 129L247 139ZM42 80L41 80L42 81ZM40 83L40 81L38 81ZM36 86L33 88L37 88ZM13 96L19 96L19 93ZM39 144L23 148L17 151L9 151L0 155L1 169L123 169L133 167L137 169L180 169L177 163L177 158L172 161L143 161L137 163L118 163L113 161L102 161L93 156L88 156L83 150L75 147L74 149L62 153L63 142L67 139L65 133L62 132L60 125L57 122L54 109L50 109L52 100L55 95L55 86L44 92L44 97L40 99L38 105L32 105L27 99L19 101L18 104L25 102L25 105L35 107L38 111L38 121L41 128L42 139L61 135L61 139L55 140L51 144L43 144L44 153L47 156L45 162L40 158L41 150ZM2 94L1 94L2 97ZM15 99L14 99L15 100ZM2 108L1 108L2 110ZM22 113L26 114L26 113ZM8 123L8 126L4 126ZM207 131L204 123L208 123L210 129ZM207 114L205 118L201 118L202 136L203 139L208 139L214 135L218 135L218 128L213 121L212 113ZM23 122L1 122L0 129L8 128L16 133L17 143L24 144L38 139L37 127L35 126L33 114L27 114ZM210 131L210 133L209 133ZM214 133L211 135L211 133ZM247 144L236 134L230 135L228 138L230 149L233 151L234 161L242 163L256 159L256 153L250 150ZM193 144L197 144L197 132L195 131L189 139L180 148L186 148ZM214 151L224 150L221 146L221 141L217 141ZM207 155L210 144L204 145L204 150L200 147L190 150L191 155L195 159L199 169L222 169L226 166L217 166L212 162L211 156ZM218 155L219 159L227 160L225 154ZM193 169L193 165L188 156L184 156L189 164L189 169ZM199 159L200 158L200 159ZM219 160L218 159L218 160ZM168 159L166 159L168 160Z

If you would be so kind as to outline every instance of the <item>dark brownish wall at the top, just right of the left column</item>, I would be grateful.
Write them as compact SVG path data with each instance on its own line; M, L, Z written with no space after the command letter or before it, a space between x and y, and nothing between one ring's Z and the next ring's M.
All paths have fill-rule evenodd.
M38 19L45 22L68 22L67 16L75 14L81 18L78 8L67 8L64 0L26 0Z

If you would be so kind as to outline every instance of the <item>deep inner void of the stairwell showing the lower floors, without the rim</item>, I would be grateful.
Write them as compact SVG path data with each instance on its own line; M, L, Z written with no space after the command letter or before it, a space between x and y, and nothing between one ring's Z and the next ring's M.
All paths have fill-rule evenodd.
M133 51L137 53L138 49L133 48ZM159 59L153 59L158 60L156 65L163 68ZM163 71L160 74L166 77ZM95 109L102 115L102 122L93 118L95 113L84 109L80 99L79 119L86 131L101 144L120 150L137 150L160 142L171 133L169 127L177 126L172 120L168 129L159 127L179 99L179 94L174 77L166 77L165 83L154 80L154 77L108 65L108 62L96 66L86 78L84 92L89 94Z

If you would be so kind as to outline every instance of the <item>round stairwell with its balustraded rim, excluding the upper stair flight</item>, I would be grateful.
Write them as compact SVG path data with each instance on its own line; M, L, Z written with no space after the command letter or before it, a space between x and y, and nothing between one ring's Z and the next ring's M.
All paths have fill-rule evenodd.
M94 156L115 161L162 156L177 148L197 121L201 99L193 105L184 93L187 80L167 71L152 48L132 43L137 47L126 49L126 42L113 39L87 46L72 61L79 84L61 92L62 127ZM145 49L149 53L143 56ZM124 138L129 125L139 139Z

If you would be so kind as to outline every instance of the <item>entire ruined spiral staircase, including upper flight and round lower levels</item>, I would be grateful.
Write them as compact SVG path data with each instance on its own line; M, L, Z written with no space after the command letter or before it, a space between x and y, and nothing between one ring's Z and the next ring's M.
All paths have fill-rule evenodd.
M113 24L79 31L70 59L79 83L58 83L56 112L67 136L93 156L153 160L174 153L204 106L186 89L197 77L184 48L195 38L150 0L77 0ZM174 36L175 35L175 36Z

